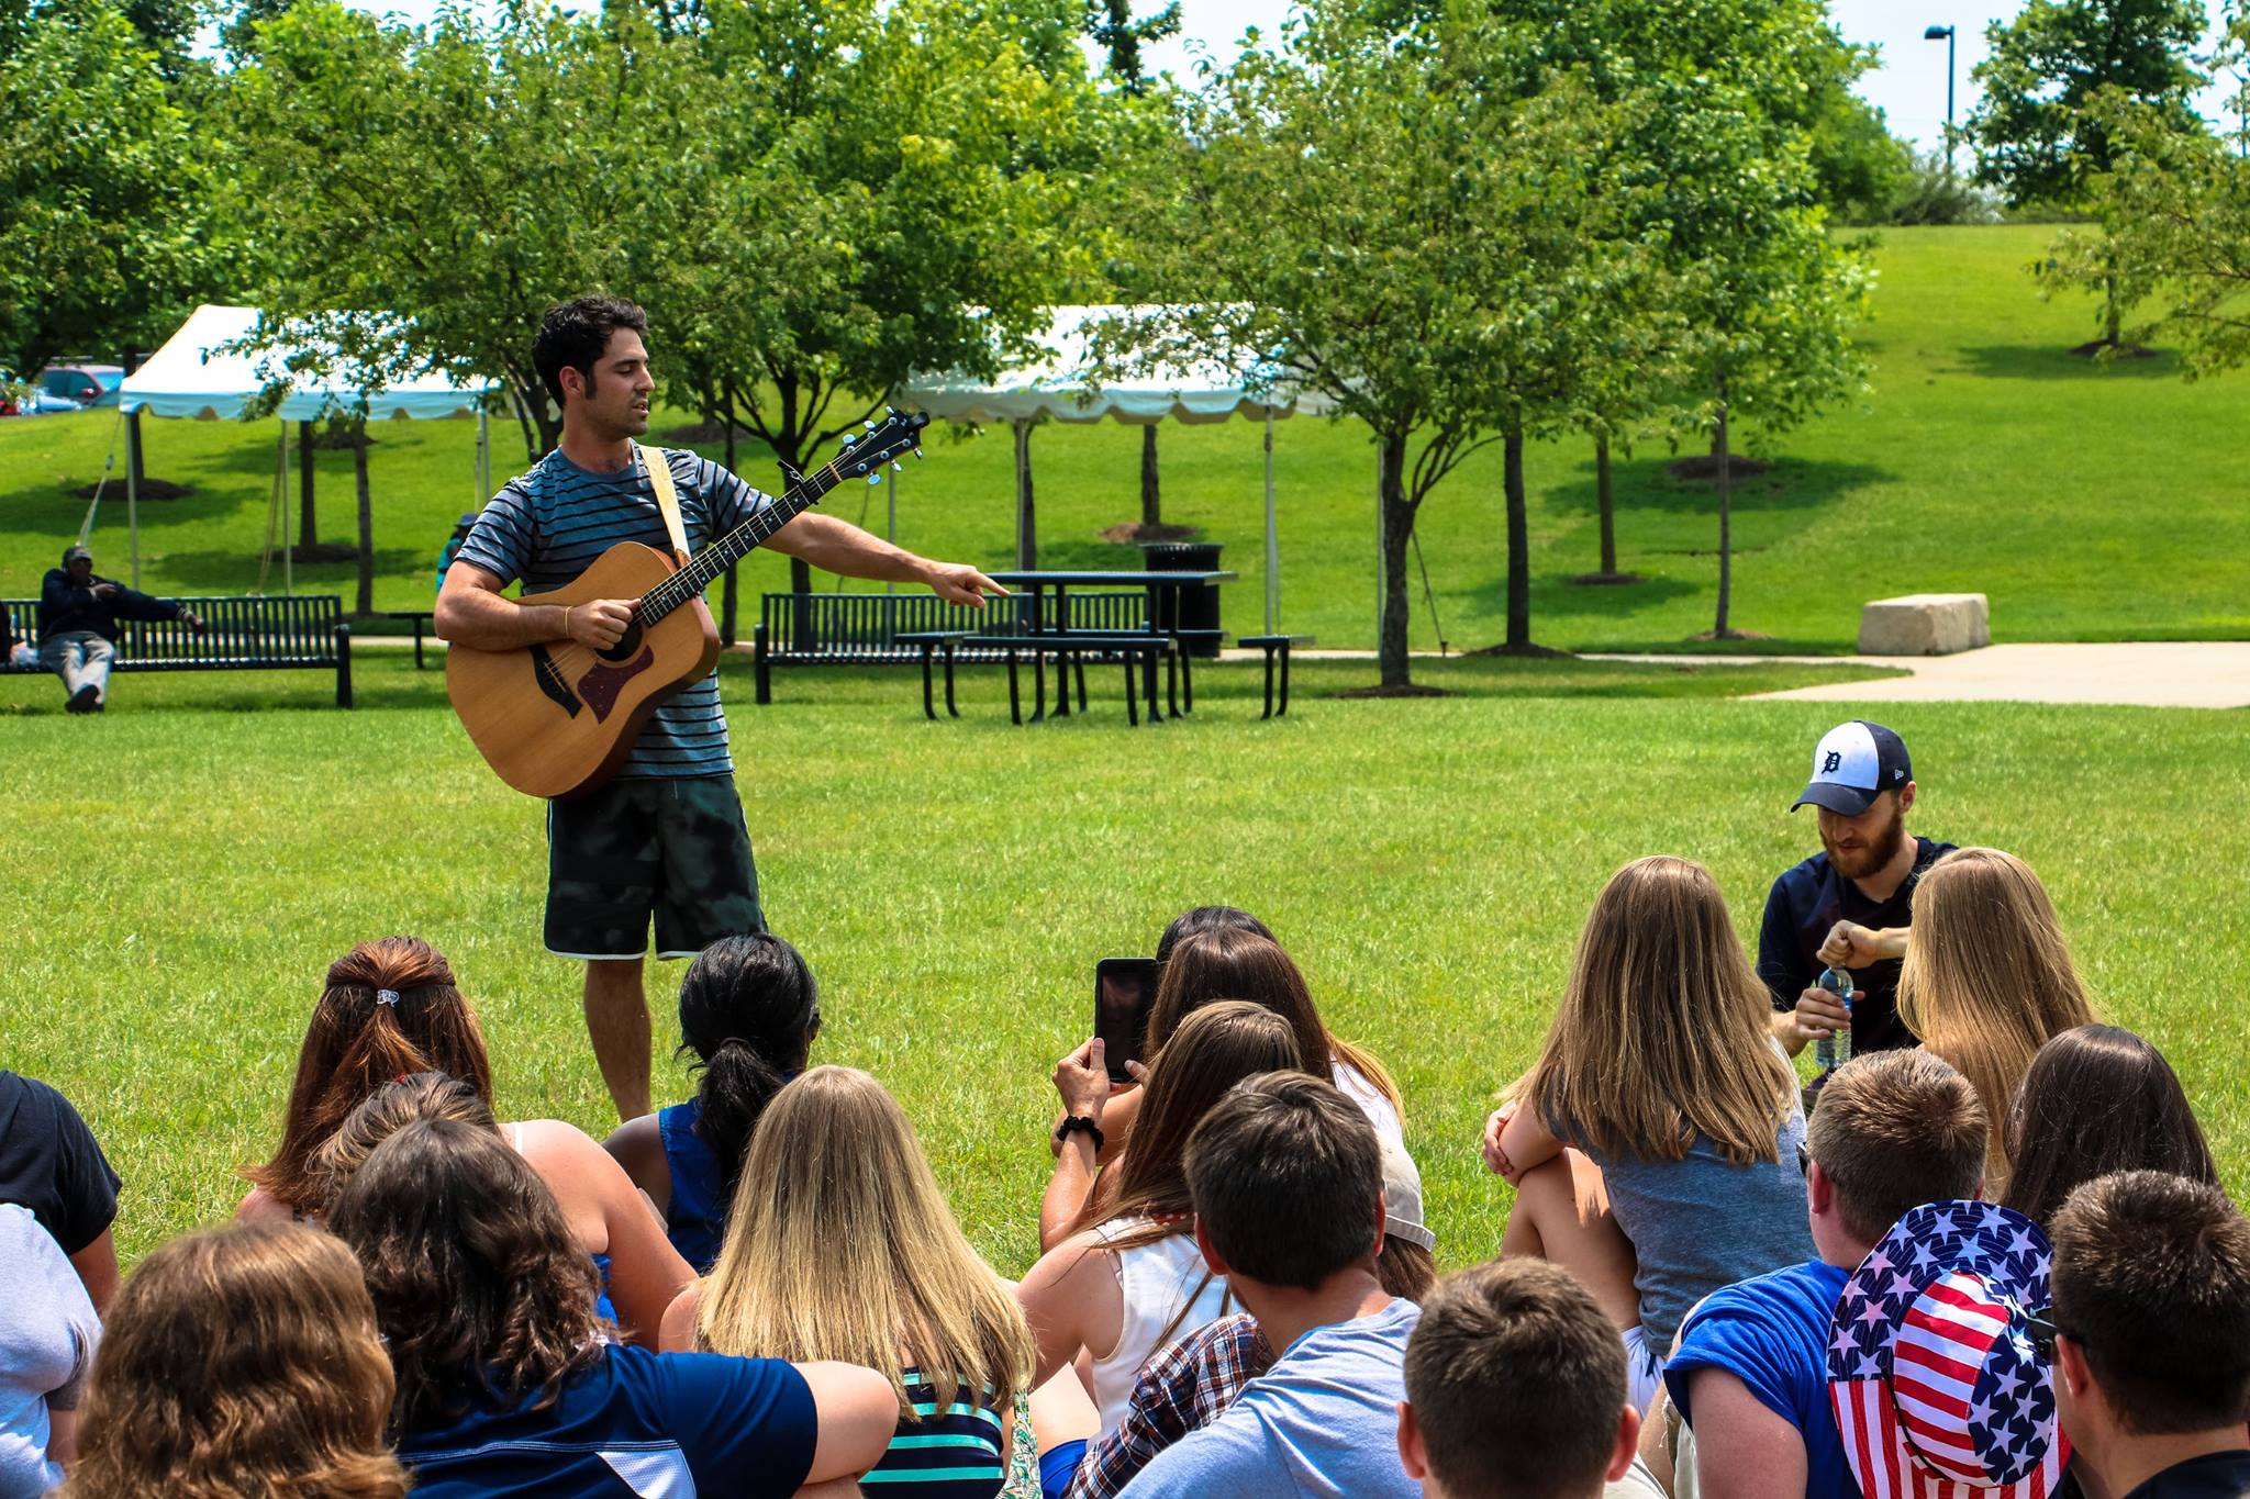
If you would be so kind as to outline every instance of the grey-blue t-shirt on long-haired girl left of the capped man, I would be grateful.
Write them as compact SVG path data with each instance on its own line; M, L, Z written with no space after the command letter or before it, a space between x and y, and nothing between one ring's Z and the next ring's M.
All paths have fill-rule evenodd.
M1726 1160L1710 1135L1696 1135L1681 1160L1642 1160L1606 1155L1562 1121L1548 1124L1602 1169L1609 1211L1634 1241L1640 1328L1658 1357L1688 1308L1710 1292L1814 1259L1798 1175L1804 1110L1796 1097L1773 1133L1775 1157L1748 1166Z

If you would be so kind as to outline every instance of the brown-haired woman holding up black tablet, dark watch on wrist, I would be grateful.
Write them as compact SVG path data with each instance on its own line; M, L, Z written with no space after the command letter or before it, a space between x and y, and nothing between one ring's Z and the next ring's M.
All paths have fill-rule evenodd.
M1163 973L1148 1014L1148 1054L1154 1056L1163 1050L1163 1043L1172 1038L1181 1020L1199 1007L1215 1000L1249 1000L1251 1005L1271 1009L1296 1029L1296 1043L1305 1054L1307 1072L1332 1076L1336 1088L1359 1099L1361 1108L1368 1110L1368 1119L1375 1121L1377 1133L1404 1144L1397 1083L1390 1081L1390 1074L1370 1052L1332 1036L1321 1025L1321 1014L1312 1002L1305 975L1289 962L1289 955L1280 946L1258 935L1262 926L1251 930L1256 917L1238 912L1231 906L1197 908L1197 912L1210 912L1202 917L1199 933L1172 939L1168 930L1166 937L1172 939L1170 948L1159 944ZM1188 912L1181 921L1197 917L1197 912ZM1071 1056L1071 1063L1098 1072L1102 1085L1109 1088L1107 1056L1098 1038L1080 1047ZM1073 1101L1087 1103L1091 1099L1064 1097L1064 1108L1069 1110ZM1109 1148L1091 1162L1073 1157L1071 1151L1058 1151L1053 1178L1040 1202L1042 1250L1055 1247L1064 1234L1082 1227L1089 1200L1096 1211L1100 1209L1096 1169L1125 1148L1138 1112L1141 1090L1116 1090L1116 1097L1107 1099L1102 1112L1102 1133Z

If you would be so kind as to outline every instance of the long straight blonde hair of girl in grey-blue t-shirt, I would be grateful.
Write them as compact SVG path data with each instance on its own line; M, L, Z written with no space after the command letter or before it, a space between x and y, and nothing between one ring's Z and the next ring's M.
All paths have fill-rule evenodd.
M1708 1135L1737 1166L1778 1160L1798 1074L1710 870L1665 854L1602 885L1546 1047L1512 1090L1604 1155L1683 1160Z

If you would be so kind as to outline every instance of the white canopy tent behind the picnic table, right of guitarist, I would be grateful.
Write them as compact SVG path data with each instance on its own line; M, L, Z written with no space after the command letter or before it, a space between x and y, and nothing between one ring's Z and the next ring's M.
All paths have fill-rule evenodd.
M1274 423L1276 418L1325 416L1328 398L1267 380L1267 371L1231 371L1220 364L1156 366L1130 380L1096 380L1096 337L1112 319L1148 317L1161 308L1073 306L1055 308L1040 337L1044 357L1004 371L997 380L958 373L916 375L898 396L904 405L956 423L1008 423L1015 431L1017 566L1030 566L1030 425L1098 423L1114 418L1132 427L1174 423L1224 423L1238 416L1264 420L1264 542L1267 542L1267 634L1280 629L1280 542L1274 526ZM1251 389L1251 387L1262 389Z

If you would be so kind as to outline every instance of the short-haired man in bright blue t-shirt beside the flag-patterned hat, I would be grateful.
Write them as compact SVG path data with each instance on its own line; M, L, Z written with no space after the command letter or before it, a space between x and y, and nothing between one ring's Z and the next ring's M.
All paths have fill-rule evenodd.
M1984 1133L1976 1088L1928 1052L1870 1052L1834 1072L1804 1130L1800 1211L1818 1259L1706 1297L1665 1364L1672 1407L1694 1432L1699 1492L1858 1495L1829 1407L1829 1315L1901 1216L1976 1196ZM1656 1470L1670 1470L1663 1432L1649 1438Z

